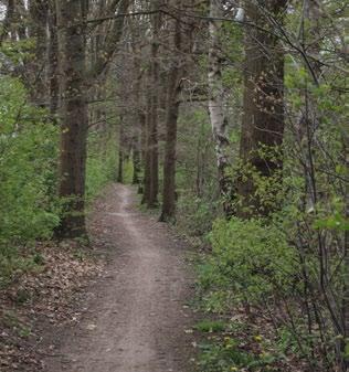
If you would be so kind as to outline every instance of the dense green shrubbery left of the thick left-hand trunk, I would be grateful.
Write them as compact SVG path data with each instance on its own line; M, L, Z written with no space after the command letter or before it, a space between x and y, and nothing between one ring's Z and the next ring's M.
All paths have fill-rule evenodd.
M19 246L50 238L60 222L55 199L57 128L28 103L19 79L0 78L0 281L35 265Z

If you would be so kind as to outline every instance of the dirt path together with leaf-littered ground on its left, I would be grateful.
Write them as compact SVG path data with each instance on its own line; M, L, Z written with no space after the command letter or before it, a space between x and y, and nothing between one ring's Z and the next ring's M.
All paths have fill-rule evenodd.
M38 247L42 269L0 293L0 370L190 372L188 246L110 185L92 248ZM73 246L72 246L73 245Z

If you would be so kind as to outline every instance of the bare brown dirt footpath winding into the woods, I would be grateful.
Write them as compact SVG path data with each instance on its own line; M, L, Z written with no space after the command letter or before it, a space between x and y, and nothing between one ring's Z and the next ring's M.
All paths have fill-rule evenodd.
M107 273L87 288L82 319L57 329L47 372L190 372L191 279L186 245L113 185L93 217L108 247Z

